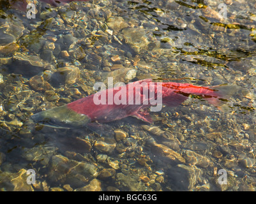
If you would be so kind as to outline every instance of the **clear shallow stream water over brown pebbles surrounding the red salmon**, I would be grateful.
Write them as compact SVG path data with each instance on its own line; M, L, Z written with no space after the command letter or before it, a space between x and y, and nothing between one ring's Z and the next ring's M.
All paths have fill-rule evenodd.
M255 191L256 4L226 0L223 17L221 3L38 3L34 19L2 3L0 189ZM93 94L107 77L239 90L225 112L191 96L151 112L153 124L128 117L59 129L29 120ZM29 169L36 184L27 184Z

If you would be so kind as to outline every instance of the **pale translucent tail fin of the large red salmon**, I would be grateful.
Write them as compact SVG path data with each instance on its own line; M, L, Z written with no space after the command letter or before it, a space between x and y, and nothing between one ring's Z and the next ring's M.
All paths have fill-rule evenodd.
M218 110L228 112L229 107L227 106L227 102L238 91L239 87L237 85L216 85L209 87L209 89L212 89L213 93L209 95L211 97L206 96L204 99L216 106Z

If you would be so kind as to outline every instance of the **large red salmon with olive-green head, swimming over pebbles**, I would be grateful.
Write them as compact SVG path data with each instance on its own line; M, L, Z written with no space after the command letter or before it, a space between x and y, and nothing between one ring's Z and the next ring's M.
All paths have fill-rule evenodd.
M35 122L61 127L80 127L89 122L111 122L128 116L153 122L147 108L160 106L158 110L161 110L162 104L157 102L167 106L178 106L190 94L202 96L215 106L224 98L221 91L209 87L152 82L151 79L147 79L106 89L68 105L36 113L32 119Z

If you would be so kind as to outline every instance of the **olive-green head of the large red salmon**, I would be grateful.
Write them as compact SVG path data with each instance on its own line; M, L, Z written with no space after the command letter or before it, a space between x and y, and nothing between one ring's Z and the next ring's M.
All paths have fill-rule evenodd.
M86 126L91 119L87 115L77 113L66 105L45 110L31 115L34 123L50 128L82 128Z

